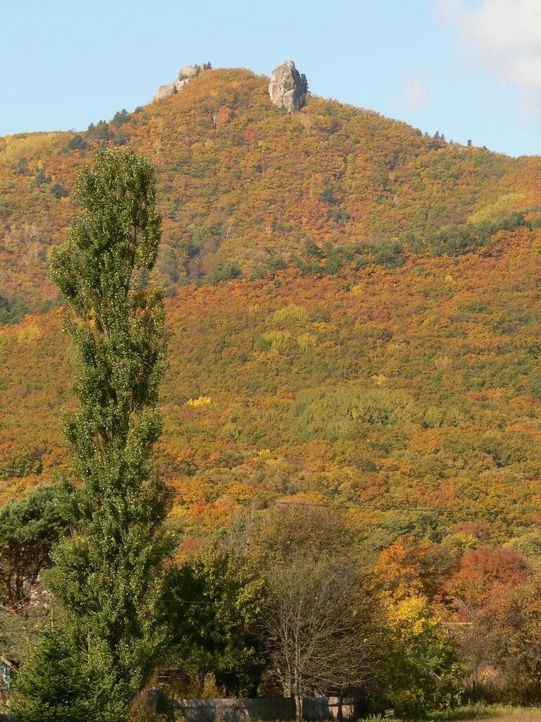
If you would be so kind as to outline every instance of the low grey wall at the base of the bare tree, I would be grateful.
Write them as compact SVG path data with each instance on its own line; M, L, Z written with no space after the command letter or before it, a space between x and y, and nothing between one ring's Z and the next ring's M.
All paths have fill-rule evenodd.
M291 697L260 697L238 700L173 700L186 722L245 722L247 720L294 720L295 700ZM355 700L344 700L344 719L356 718ZM306 697L303 717L332 720L338 716L338 697Z

